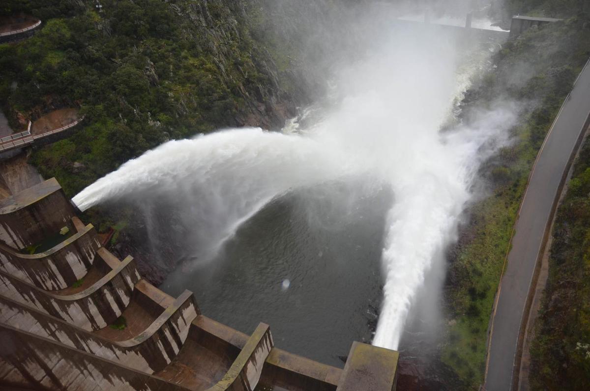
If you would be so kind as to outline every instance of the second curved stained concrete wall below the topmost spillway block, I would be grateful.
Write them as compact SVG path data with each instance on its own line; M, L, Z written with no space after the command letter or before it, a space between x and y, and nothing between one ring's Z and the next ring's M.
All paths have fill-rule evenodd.
M0 293L92 331L107 327L122 314L139 279L136 263L129 256L90 288L75 295L54 295L2 271Z

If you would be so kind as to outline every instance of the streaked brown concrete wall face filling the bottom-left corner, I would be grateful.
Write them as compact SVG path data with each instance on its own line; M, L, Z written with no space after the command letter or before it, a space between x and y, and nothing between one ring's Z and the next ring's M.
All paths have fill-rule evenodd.
M0 346L3 386L35 390L186 390L160 377L5 324L0 324Z

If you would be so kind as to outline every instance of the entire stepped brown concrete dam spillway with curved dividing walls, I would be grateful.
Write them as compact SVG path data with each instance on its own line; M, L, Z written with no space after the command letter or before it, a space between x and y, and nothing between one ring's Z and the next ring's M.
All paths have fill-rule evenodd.
M47 390L395 390L398 352L343 370L211 320L100 246L52 178L0 201L0 386Z

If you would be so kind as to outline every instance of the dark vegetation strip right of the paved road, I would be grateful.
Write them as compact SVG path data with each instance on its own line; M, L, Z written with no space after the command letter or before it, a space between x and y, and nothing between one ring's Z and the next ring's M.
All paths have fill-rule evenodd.
M553 227L549 276L530 347L532 390L590 385L590 139Z

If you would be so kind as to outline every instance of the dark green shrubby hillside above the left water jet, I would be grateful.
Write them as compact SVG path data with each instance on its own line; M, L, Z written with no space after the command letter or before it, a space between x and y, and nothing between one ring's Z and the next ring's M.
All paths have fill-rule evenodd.
M41 174L73 196L168 139L280 126L292 99L251 36L245 3L102 0L97 12L94 2L3 1L0 14L44 22L0 45L0 104L12 125L59 107L86 115L83 129L34 153Z

